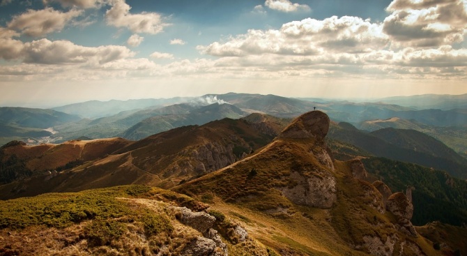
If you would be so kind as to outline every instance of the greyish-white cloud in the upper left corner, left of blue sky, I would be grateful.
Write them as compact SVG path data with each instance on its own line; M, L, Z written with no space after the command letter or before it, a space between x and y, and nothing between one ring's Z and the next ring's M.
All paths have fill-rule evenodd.
M82 10L70 10L62 13L53 8L27 10L26 13L13 17L8 23L9 29L21 30L27 36L45 36L47 33L61 31L73 18L82 15Z

